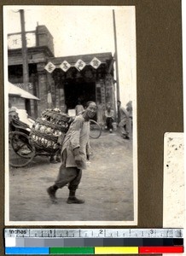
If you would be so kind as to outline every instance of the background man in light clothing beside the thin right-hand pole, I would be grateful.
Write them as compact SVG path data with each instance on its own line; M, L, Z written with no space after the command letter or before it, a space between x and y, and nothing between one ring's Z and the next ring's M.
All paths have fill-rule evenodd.
M129 132L130 132L130 117L129 113L125 110L125 108L121 107L121 102L118 101L118 109L119 109L119 129L121 131L122 137L125 139L130 139Z

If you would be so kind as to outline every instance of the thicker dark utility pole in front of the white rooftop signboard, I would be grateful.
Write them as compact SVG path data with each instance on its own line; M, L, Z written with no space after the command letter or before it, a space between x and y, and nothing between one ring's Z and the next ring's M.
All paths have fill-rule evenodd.
M23 60L23 84L28 91L29 73L28 73L28 59L26 47L26 31L25 31L25 13L24 9L20 9L20 26L21 26L21 41L22 41L22 60ZM31 103L26 99L26 112L31 115Z

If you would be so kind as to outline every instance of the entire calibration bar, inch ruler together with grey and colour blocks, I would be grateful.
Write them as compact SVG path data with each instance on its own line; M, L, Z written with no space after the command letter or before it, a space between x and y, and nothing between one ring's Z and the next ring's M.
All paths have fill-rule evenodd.
M5 229L5 254L183 253L181 229Z

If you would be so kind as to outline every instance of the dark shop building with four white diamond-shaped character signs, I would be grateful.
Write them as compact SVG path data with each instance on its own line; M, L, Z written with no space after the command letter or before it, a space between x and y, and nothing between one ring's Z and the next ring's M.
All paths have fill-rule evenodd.
M32 102L33 116L37 117L45 108L72 110L78 100L83 105L95 101L96 119L102 123L107 104L115 109L111 53L55 57L53 37L46 26L26 32L26 44L29 84L23 84L21 34L8 35L9 82L40 99Z

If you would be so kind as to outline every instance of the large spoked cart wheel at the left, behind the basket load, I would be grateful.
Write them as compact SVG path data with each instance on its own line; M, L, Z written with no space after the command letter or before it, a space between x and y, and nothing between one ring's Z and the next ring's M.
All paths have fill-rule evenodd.
M32 161L35 148L29 143L29 137L20 131L9 132L9 165L24 167Z

